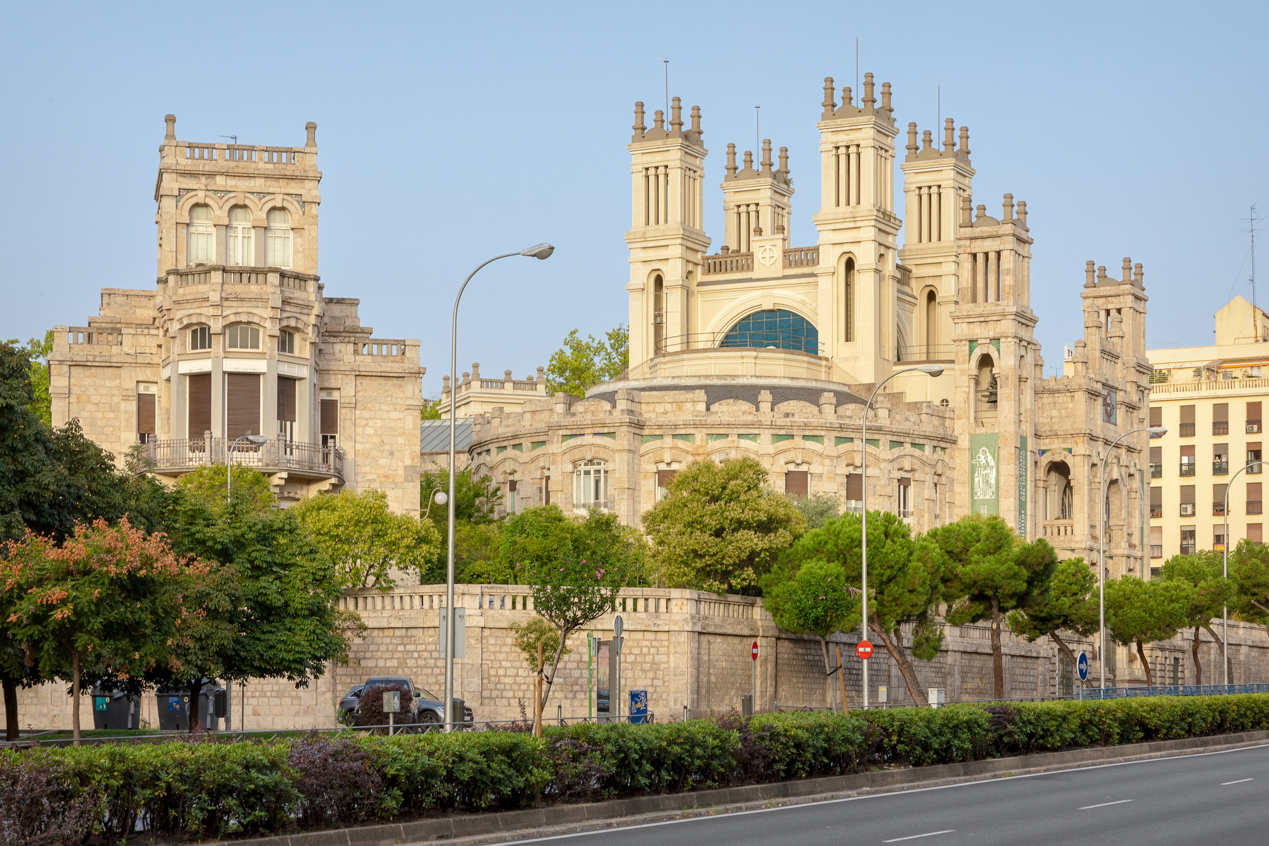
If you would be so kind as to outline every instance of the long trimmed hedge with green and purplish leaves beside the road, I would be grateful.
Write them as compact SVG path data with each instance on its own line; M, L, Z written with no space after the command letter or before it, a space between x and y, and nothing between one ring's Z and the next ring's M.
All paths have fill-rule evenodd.
M1269 729L1269 694L759 714L401 737L0 752L0 842L311 831Z

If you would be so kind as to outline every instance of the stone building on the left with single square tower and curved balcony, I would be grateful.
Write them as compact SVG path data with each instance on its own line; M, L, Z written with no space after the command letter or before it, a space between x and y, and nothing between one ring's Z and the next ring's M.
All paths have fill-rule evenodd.
M284 504L378 488L418 514L419 341L373 337L359 301L324 293L317 126L263 147L178 141L166 120L157 284L105 288L86 326L55 327L53 422L121 459L141 444L164 479L233 445Z

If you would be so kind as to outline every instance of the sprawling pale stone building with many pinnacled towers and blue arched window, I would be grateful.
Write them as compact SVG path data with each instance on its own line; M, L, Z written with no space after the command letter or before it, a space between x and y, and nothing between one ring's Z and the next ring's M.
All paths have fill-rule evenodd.
M473 417L470 453L524 504L604 507L636 525L698 458L751 455L777 491L830 493L924 530L999 514L1063 556L1098 554L1099 467L1146 425L1150 364L1141 265L1089 263L1084 339L1044 378L1030 309L1027 204L1000 217L972 199L968 129L900 129L888 84L859 103L831 79L820 104L813 246L793 246L788 150L727 146L725 231L703 230L700 109L679 98L652 128L634 107L631 155L629 369L585 397L529 398ZM892 175L902 156L905 217ZM907 228L904 230L904 221ZM900 232L904 238L900 241ZM1074 292L1072 292L1074 293ZM902 373L862 417L873 388ZM862 476L869 450L868 477ZM1107 568L1141 573L1146 435L1109 457Z

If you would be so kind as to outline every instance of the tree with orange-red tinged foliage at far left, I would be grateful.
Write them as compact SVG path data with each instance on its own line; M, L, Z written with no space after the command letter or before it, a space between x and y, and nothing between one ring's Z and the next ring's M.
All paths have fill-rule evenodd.
M10 637L32 654L39 675L71 682L71 728L80 737L80 693L95 677L140 679L156 667L179 670L184 604L202 562L181 561L161 534L98 519L58 543L28 534L0 561L4 583L22 586L9 609Z

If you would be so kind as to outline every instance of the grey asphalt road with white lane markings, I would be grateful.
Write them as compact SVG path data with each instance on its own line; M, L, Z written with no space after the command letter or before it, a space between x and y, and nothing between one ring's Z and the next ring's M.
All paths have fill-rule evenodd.
M1269 843L1269 746L516 842L547 841L567 846L1261 846Z

